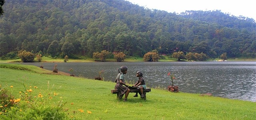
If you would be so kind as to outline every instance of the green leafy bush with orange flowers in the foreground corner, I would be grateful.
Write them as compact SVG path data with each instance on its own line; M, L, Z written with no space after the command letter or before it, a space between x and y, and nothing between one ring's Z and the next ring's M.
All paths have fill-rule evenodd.
M41 93L34 95L35 89L38 87L24 85L24 89L19 91L19 97L12 95L14 92L13 87L11 90L7 90L6 87L0 87L0 118L10 120L71 120L68 114L64 111L64 104L62 101L58 101L55 104L51 104L50 101L57 95L56 93Z

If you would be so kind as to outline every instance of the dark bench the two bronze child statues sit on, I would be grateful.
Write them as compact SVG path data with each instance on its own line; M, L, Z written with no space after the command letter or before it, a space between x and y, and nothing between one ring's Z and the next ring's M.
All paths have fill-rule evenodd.
M130 93L139 93L139 94L141 95L139 88L136 88L136 87L129 87L129 89L130 89ZM148 93L148 92L150 92L150 91L151 91L150 88L143 89L144 97L143 97L142 99L146 100L146 93ZM112 94L117 94L117 99L120 100L120 101L122 100L123 95L120 95L120 94L119 94L119 90L118 90L118 89L112 89L112 90L111 90L111 93L112 93ZM139 96L138 96L138 97L139 97Z

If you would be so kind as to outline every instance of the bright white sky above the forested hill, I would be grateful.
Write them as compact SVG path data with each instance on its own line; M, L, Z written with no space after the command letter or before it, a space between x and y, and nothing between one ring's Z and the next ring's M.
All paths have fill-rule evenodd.
M149 9L180 14L186 10L221 10L230 15L256 20L256 4L253 0L126 0Z

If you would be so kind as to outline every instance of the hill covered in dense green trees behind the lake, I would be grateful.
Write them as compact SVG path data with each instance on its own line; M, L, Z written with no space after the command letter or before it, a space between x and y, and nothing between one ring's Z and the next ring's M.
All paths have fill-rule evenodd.
M216 58L256 56L254 19L216 11L182 14L125 0L6 0L0 17L0 56L23 50L44 56L92 57L93 52L143 56L151 50Z

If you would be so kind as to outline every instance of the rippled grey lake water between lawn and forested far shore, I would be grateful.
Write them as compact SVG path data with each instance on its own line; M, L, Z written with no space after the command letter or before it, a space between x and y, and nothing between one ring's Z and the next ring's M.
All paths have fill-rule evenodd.
M40 63L21 63L40 66ZM168 72L175 75L174 85L186 93L212 93L214 96L256 102L256 62L82 62L43 63L53 70L54 64L62 72L90 79L104 70L104 81L113 81L117 68L128 67L125 81L135 83L136 72L142 71L148 87L166 88L171 85ZM114 88L114 86L113 86Z

